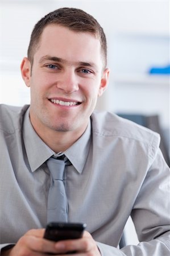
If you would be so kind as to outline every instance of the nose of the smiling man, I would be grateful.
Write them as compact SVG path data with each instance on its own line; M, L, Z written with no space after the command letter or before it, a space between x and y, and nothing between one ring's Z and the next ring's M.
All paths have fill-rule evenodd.
M69 69L63 72L60 81L57 82L57 88L64 90L67 94L71 94L78 90L78 77L74 70Z

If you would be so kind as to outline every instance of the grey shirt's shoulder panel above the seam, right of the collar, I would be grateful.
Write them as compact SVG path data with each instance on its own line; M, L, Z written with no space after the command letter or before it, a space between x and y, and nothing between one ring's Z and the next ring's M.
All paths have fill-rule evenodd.
M140 126L135 122L119 117L116 114L110 112L97 112L95 110L91 119L93 134L97 137L103 137L103 139L109 137L110 143L115 138L121 138L124 142L133 141L138 144L146 144L147 147L159 147L159 134L146 127Z

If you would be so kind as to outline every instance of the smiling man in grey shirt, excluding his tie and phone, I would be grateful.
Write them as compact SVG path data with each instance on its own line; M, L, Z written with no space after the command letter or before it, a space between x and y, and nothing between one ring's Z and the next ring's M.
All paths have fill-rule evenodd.
M169 170L159 135L94 111L109 79L106 48L102 28L82 10L59 9L36 24L21 64L31 104L0 108L1 255L169 255ZM43 238L47 162L61 155L69 160L68 221L87 229L78 240L53 242ZM130 214L141 242L119 249Z

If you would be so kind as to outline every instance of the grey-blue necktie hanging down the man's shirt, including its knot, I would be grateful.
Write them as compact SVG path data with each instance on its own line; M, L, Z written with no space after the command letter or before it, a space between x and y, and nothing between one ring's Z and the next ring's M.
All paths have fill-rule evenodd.
M47 166L51 174L48 193L47 222L68 222L68 203L64 187L64 160L49 158Z

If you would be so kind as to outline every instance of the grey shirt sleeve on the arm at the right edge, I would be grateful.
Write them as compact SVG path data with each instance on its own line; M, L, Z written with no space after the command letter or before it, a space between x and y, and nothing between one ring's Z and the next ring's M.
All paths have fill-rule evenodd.
M159 150L131 213L139 244L118 249L97 243L102 256L170 255L169 181L169 167Z

